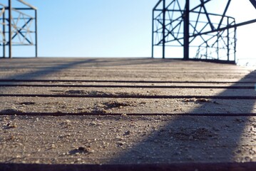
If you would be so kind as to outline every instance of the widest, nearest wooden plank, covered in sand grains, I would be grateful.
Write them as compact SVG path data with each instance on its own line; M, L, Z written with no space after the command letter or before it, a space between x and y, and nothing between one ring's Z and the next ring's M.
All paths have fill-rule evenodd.
M205 116L1 116L0 162L255 162L255 120Z

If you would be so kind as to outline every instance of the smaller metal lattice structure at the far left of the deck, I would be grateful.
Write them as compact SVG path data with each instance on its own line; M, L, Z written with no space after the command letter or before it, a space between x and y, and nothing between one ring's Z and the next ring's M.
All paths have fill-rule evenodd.
M3 58L12 57L13 46L34 46L37 57L37 9L23 0L16 0L24 7L13 7L0 4L0 46L3 47ZM8 55L6 55L8 48Z

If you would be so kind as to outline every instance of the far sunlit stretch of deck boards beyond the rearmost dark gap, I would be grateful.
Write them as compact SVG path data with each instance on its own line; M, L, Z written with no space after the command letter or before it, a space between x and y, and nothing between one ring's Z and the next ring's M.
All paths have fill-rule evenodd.
M4 61L5 62L5 61ZM174 64L175 63L175 64ZM98 78L99 80L129 80L129 79L154 79L154 80L235 80L250 73L250 69L214 63L198 63L171 60L153 59L71 59L51 58L26 60L15 59L10 63L1 63L3 71L1 78L53 78L53 79L85 79ZM30 66L30 69L29 69ZM27 68L28 67L28 68ZM39 67L39 68L36 68ZM208 71L208 72L205 72ZM203 73L203 74L202 74ZM124 79L125 78L125 79Z

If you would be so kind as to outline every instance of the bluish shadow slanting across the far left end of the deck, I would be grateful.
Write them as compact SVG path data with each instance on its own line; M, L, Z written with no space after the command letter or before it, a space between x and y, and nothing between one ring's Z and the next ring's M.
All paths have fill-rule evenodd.
M15 63L15 66L1 66L1 69L7 70L17 70L19 69L31 69L31 71L25 73L13 74L11 76L1 77L1 81L4 80L22 80L22 79L41 79L51 76L51 74L55 74L61 71L64 71L68 68L90 68L93 67L115 67L115 66L138 66L141 64L157 64L157 63L172 63L172 60L159 60L159 59L152 59L152 58L115 58L114 60L104 59L104 58L63 58L64 60L61 61L60 59L56 58L54 60L48 61L47 58L36 58L31 59L31 61L26 61L19 59L18 61L12 61L11 64ZM4 59L3 59L4 60ZM15 59L14 59L15 60ZM42 66L36 66L34 62L42 62ZM6 63L6 61L4 61ZM51 63L50 63L51 62ZM8 62L7 62L8 63Z

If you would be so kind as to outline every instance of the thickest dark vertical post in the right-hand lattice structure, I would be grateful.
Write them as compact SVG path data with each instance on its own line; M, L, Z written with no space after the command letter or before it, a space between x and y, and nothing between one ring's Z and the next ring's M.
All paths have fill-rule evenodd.
M190 25L190 0L186 0L185 4L185 11L183 14L184 17L184 44L183 44L183 55L184 59L189 59L189 41L190 41L190 31L189 31L189 25Z

